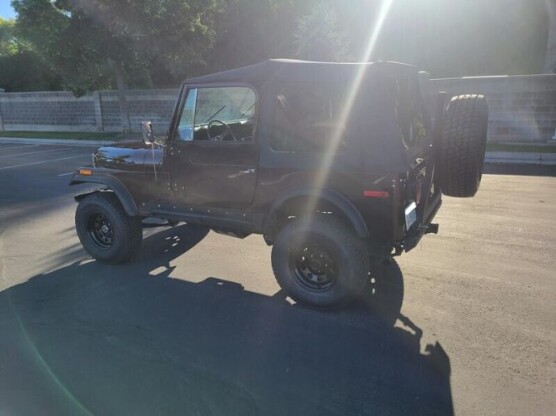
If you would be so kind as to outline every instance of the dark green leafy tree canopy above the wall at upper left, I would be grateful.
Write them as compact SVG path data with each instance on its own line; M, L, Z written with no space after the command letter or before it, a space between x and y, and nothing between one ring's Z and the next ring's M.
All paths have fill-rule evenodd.
M77 94L175 84L213 40L217 0L13 0L17 29Z

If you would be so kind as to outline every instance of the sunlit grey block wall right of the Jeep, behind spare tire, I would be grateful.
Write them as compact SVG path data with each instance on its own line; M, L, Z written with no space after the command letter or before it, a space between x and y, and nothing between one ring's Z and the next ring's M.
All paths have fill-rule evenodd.
M435 79L432 85L451 95L484 94L491 142L547 143L556 136L556 75Z

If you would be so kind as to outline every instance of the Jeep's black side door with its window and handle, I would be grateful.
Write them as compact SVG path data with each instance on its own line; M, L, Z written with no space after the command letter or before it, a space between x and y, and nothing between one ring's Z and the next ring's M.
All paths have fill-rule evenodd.
M178 207L248 207L259 149L257 95L247 86L189 87L165 164Z

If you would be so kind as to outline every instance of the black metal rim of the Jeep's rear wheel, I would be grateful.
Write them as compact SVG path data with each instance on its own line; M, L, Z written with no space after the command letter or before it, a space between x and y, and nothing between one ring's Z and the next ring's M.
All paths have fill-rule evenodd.
M334 256L321 246L303 245L291 251L289 265L295 280L313 292L329 290L338 278Z

